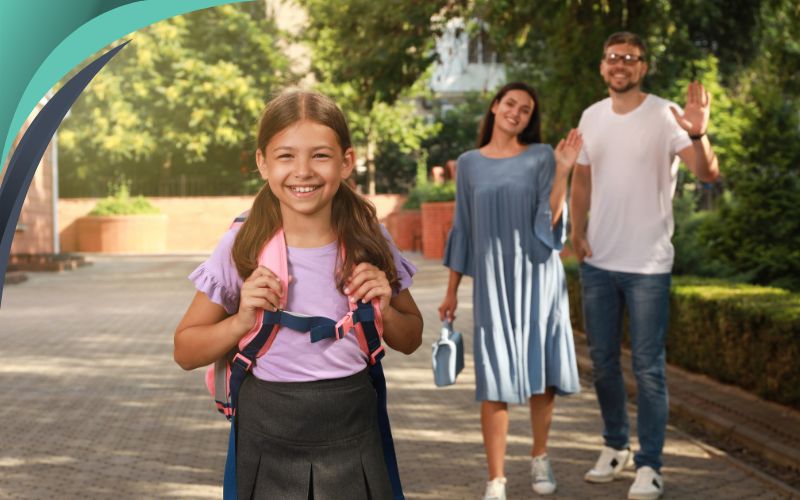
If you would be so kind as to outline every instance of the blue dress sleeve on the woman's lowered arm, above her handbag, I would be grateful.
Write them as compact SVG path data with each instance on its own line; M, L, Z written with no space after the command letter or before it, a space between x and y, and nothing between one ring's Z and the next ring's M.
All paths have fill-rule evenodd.
M461 158L456 168L456 208L453 227L447 236L444 249L444 265L453 271L467 276L475 274L475 257L472 248L472 195L467 168L463 168Z

